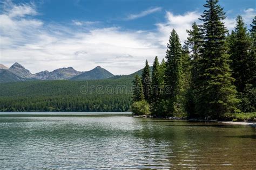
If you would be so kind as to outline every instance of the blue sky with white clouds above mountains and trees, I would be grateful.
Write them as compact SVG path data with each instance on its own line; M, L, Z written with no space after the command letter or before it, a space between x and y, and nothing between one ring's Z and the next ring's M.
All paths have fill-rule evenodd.
M101 66L115 75L165 57L170 32L181 43L204 11L203 0L37 0L0 2L0 63L21 63L31 73ZM225 25L241 15L248 27L255 0L220 0Z

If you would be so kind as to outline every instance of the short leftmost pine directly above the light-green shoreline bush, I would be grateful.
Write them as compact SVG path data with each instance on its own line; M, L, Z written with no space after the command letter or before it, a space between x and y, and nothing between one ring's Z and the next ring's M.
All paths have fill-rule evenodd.
M143 86L142 86L142 79L138 75L135 76L132 86L133 96L132 101L133 102L139 102L144 100L143 95Z

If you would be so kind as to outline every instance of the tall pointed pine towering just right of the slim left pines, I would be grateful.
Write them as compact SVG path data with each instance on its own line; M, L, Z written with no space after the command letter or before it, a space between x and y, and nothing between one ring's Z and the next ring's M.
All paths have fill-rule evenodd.
M167 109L171 114L178 114L181 112L180 93L183 87L183 68L182 48L179 36L174 29L167 44L166 59L165 85L169 87L165 89L165 96L169 101ZM167 89L170 90L167 91Z

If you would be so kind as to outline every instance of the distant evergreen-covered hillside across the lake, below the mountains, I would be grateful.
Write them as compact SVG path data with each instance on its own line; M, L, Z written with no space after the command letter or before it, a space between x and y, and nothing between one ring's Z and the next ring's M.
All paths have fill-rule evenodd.
M0 111L128 111L132 79L1 83Z

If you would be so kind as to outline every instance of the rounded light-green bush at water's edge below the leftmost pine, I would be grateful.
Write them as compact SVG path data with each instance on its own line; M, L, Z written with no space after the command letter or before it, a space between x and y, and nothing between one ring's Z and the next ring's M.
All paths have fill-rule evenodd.
M131 105L133 115L149 115L150 105L145 100L139 102L133 102Z

